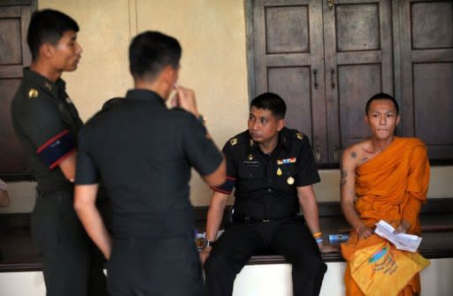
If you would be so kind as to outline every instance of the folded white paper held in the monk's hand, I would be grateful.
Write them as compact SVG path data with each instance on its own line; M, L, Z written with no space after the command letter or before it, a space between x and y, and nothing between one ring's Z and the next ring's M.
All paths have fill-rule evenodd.
M412 253L417 251L421 242L420 237L407 233L394 233L393 231L395 231L395 228L393 228L392 225L388 224L384 220L380 220L380 222L376 224L374 233L391 241L399 250L409 251Z

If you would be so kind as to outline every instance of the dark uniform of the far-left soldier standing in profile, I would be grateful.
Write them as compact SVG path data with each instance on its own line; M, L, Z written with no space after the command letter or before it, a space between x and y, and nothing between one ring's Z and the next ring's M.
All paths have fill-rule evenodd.
M76 152L82 126L65 81L25 69L12 124L37 181L31 227L47 295L104 295L102 262L92 263L92 245L73 209L73 184L58 167Z

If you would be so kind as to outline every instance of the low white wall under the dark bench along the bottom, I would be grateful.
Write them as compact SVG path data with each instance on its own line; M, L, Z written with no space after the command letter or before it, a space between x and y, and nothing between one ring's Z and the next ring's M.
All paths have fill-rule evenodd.
M320 296L344 295L345 262L327 263ZM453 258L431 260L421 272L422 295L450 296L453 291ZM248 265L234 282L233 296L291 296L289 264ZM0 273L0 295L45 296L41 272Z

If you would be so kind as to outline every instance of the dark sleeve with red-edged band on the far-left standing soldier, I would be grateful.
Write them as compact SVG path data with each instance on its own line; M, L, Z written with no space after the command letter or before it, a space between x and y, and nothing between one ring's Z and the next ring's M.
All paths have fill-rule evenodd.
M53 102L42 97L30 98L19 113L16 120L50 170L76 151L73 135Z

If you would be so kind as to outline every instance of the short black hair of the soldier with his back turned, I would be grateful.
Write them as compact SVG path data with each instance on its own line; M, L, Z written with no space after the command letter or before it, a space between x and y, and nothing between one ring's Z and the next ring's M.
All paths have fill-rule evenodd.
M136 35L129 46L129 70L134 79L152 79L167 65L177 69L180 55L180 42L175 38L156 31L146 31Z

